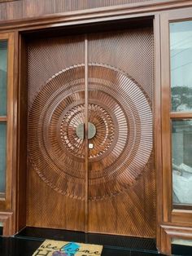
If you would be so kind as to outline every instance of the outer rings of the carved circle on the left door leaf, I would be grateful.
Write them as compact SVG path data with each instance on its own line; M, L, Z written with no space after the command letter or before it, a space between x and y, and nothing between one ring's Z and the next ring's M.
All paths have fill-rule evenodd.
M65 147L61 129L70 109L84 104L83 76L83 64L57 73L37 94L28 116L28 157L33 169L55 191L81 199L84 160ZM78 150L84 151L83 143Z

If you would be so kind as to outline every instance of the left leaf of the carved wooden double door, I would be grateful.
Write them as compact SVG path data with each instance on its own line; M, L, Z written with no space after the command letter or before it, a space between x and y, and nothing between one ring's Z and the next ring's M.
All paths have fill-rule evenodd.
M85 142L74 129L85 123L84 45L28 44L28 226L85 228Z

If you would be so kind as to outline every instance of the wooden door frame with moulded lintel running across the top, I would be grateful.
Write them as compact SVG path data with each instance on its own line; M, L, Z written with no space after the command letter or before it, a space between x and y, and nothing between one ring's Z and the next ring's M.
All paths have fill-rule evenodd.
M166 7L165 7L166 4ZM12 187L12 210L14 213L13 223L9 222L12 229L4 235L12 235L18 232L25 226L25 182L26 182L26 138L22 135L26 134L26 76L25 76L25 40L24 35L29 31L36 32L41 29L63 28L68 29L69 26L82 24L87 26L89 24L102 24L106 21L118 21L125 19L140 19L142 17L154 17L154 35L155 35L155 174L156 174L156 191L157 191L157 247L159 251L170 252L170 242L166 241L166 234L170 232L170 228L166 229L164 224L164 209L163 209L163 179L162 179L162 108L161 108L161 51L160 51L160 15L162 12L177 8L192 7L192 1L164 1L153 5L146 5L146 7L109 7L98 8L89 11L74 11L64 15L46 15L39 18L30 18L24 20L11 20L1 22L0 32L13 32L15 38L15 65L14 65L14 86L15 94L13 96L15 121L13 130L14 136L14 157L13 157L13 187ZM161 58L160 58L161 57ZM168 72L168 71L167 71ZM168 207L168 205L164 206ZM6 213L5 213L6 214ZM5 215L4 214L4 215ZM2 214L3 215L3 214ZM1 216L2 216L1 215ZM3 215L3 216L4 216ZM7 213L6 218L10 214ZM7 224L8 227L8 224ZM163 229L164 228L164 229ZM7 228L8 231L8 228ZM178 232L178 231L177 231ZM190 236L189 236L190 237Z

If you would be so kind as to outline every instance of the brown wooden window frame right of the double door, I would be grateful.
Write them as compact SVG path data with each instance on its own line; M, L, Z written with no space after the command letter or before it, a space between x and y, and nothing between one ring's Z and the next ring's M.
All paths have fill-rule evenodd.
M172 204L172 120L191 119L191 112L172 112L171 109L171 60L169 24L192 20L192 8L169 11L161 15L161 86L162 86L162 195L163 221L186 223L192 227L192 205L182 208Z

